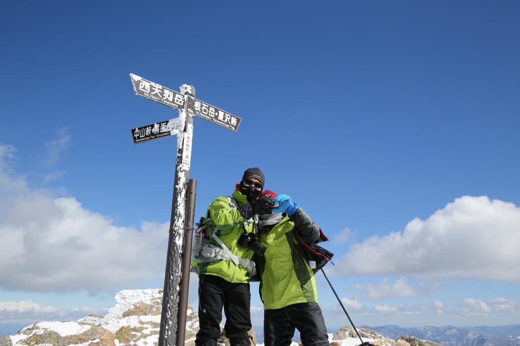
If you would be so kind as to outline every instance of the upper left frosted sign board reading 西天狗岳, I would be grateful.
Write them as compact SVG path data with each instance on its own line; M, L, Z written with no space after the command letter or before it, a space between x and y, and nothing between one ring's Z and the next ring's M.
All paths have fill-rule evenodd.
M136 95L165 104L168 107L178 109L179 111L184 110L184 96L179 94L179 92L163 87L157 83L147 81L133 73L130 74L130 77L132 78L132 84L134 85Z

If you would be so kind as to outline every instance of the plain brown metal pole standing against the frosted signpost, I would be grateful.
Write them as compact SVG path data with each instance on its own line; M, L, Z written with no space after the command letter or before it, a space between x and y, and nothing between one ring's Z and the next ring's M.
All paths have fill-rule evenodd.
M177 319L176 346L184 346L186 336L186 312L188 309L188 292L190 287L191 238L193 237L193 220L195 218L195 200L197 198L197 180L190 179L188 183L188 198L186 203L186 223L184 228L183 265L181 268L179 311Z

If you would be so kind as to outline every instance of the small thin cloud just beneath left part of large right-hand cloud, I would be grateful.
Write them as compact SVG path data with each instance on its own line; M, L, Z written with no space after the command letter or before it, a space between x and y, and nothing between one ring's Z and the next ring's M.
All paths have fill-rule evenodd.
M355 284L350 289L361 290L365 292L359 299L384 300L400 297L420 297L428 294L432 290L425 283L421 282L417 286L408 284L406 278L398 278L394 280L392 285L389 284L389 278L384 278L379 284L367 285Z

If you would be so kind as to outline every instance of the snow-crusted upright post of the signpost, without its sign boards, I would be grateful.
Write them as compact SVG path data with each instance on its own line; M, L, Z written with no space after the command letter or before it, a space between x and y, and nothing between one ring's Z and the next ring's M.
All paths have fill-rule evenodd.
M195 96L195 88L191 85L183 84L180 87L180 92L183 95ZM179 127L183 130L179 131L180 133L177 135L177 159L175 162L170 237L168 238L166 272L164 274L159 346L175 346L177 335L177 313L181 280L180 267L185 233L186 192L190 176L193 116L188 115L185 110L180 110L179 120ZM183 279L189 280L189 276Z

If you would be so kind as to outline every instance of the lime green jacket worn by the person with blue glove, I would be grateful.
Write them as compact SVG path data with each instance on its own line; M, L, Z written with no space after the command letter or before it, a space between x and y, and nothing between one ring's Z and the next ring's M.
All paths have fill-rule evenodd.
M286 216L272 230L259 236L266 247L264 256L260 258L260 287L265 310L318 302L313 270L303 257L293 230L294 223Z

